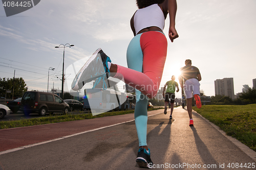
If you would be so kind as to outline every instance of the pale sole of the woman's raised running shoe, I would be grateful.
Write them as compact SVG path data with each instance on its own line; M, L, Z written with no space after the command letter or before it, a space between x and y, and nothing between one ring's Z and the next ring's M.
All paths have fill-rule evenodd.
M80 68L80 70L78 71L75 79L72 82L72 89L74 91L80 90L84 84L91 82L92 80L100 77L100 76L96 76L87 80L83 80L81 81L81 77L83 76L83 71L89 66L89 64L98 56L99 51L101 50L101 48L98 48L93 55L89 58L89 60Z

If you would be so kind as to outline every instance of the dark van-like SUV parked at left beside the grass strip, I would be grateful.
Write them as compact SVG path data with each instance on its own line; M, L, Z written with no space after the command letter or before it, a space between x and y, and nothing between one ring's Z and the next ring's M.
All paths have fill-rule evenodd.
M25 115L38 112L40 116L45 116L48 112L69 112L69 105L54 93L27 91L22 97L20 111Z

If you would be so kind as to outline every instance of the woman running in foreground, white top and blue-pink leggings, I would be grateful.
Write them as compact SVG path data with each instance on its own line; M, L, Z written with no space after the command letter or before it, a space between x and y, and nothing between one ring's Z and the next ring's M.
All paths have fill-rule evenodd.
M167 39L163 29L168 13L170 41L173 42L179 37L175 29L177 2L176 0L137 0L137 5L139 9L131 19L131 28L135 37L131 40L126 54L129 68L111 63L110 58L99 48L78 72L72 83L72 89L81 89L84 84L95 78L99 78L100 81L103 77L104 80L105 75L123 80L134 87L136 89L135 124L139 139L136 162L140 167L152 168L151 153L146 143L147 102L148 98L156 96L162 79L167 55ZM98 56L101 57L105 73L93 72L98 70L95 69L99 61Z

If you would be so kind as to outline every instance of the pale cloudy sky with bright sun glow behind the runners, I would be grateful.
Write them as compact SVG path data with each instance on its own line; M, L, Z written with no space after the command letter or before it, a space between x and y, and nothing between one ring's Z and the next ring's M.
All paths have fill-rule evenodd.
M177 1L176 30L179 38L168 39L168 51L160 87L177 77L186 59L199 68L200 89L215 95L216 79L233 78L234 93L256 78L256 1ZM134 37L130 19L136 1L41 0L33 8L7 17L0 6L0 78L22 77L29 90L61 89L65 48L64 90L70 89L76 70L101 47L112 63L127 66L126 50ZM168 35L168 17L164 33ZM154 62L154 61L153 61ZM50 67L55 70L49 69ZM118 88L122 90L123 84ZM181 93L176 93L181 98Z

